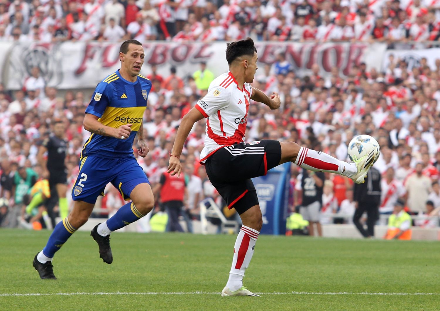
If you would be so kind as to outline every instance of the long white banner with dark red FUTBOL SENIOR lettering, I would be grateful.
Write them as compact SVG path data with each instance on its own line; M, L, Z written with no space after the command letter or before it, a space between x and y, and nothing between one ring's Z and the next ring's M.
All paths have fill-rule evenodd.
M21 89L34 66L40 68L48 86L58 89L94 88L106 75L120 68L121 43L64 42L10 43L0 42L0 81L6 89ZM337 67L346 76L361 62L367 68L380 69L386 50L384 43L288 43L257 42L259 71L264 64L272 64L278 54L286 55L299 76L311 72L318 64L320 75L328 76ZM168 76L171 67L179 76L192 75L200 62L215 75L227 71L226 42L172 43L152 41L143 44L145 63L141 74L148 75L150 65L158 66L158 73ZM379 66L379 67L378 67Z

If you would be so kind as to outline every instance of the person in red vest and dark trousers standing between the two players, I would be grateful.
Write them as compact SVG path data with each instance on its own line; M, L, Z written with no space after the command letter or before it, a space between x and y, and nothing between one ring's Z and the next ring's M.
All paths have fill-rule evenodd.
M183 199L186 194L185 176L170 175L166 172L161 175L159 183L154 187L154 193L159 193L162 207L168 214L167 232L183 232L179 224L179 214L183 207Z

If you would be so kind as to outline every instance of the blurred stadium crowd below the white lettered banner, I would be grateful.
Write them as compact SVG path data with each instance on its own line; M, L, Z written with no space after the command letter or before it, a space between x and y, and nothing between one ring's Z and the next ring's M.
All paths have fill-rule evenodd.
M369 134L381 147L381 156L374 164L382 175L381 213L389 214L396 200L403 198L411 212L427 213L426 202L430 200L435 210L429 209L429 212L438 214L440 59L434 70L426 65L425 59L411 70L404 61L392 56L389 61L389 68L383 73L374 69L367 71L365 64L360 64L346 78L339 76L337 68L325 78L319 75L316 65L309 76L300 78L280 54L278 61L257 72L253 86L266 93L278 92L282 106L271 111L263 104L251 103L246 140L295 141L347 160L347 144L351 138ZM168 166L176 128L182 116L206 92L198 88L198 85L203 88L200 72L213 79L205 64L201 64L201 68L201 71L194 72L195 79L180 76L176 68L171 69L169 76L161 76L152 67L153 72L148 75L153 89L143 123L150 152L147 157L138 158L153 189L156 189L159 203L160 187L155 186L161 182ZM209 80L204 82L209 85ZM54 119L61 119L66 125L69 142L66 166L70 185L77 177L79 154L89 136L82 121L91 94L67 91L64 97L59 97L55 88L45 87L38 68L34 68L25 87L26 92L17 90L11 93L0 86L0 185L1 195L7 199L15 188L10 208L22 204L23 193L16 190L26 180L26 173L20 172L20 168L32 169L40 176L43 172L36 154L42 140L50 134ZM187 185L191 182L191 186L187 186L184 206L193 215L198 214L197 203L203 197L219 199L204 167L198 163L204 136L205 121L202 120L194 127L181 157ZM296 165L292 165L291 207L301 204L300 196L293 191L300 172ZM354 212L352 186L351 180L345 177L326 174L321 210L323 223L331 222L326 214ZM110 200L109 205L117 208L121 205L118 191L108 191L110 196L104 198L103 207ZM420 225L437 224L434 221Z

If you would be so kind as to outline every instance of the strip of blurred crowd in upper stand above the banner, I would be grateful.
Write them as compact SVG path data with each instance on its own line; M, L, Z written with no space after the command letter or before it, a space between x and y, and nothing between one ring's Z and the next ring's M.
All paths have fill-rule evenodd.
M436 0L0 1L0 40L438 40Z

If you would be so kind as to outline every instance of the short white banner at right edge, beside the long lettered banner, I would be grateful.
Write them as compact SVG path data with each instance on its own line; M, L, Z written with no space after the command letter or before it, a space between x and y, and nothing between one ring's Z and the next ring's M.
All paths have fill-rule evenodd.
M431 70L436 70L436 60L440 59L440 48L432 49L411 49L411 50L387 50L382 61L381 71L385 71L389 66L389 57L392 55L394 60L403 60L407 63L408 69L419 67L422 58L426 58L427 65Z

